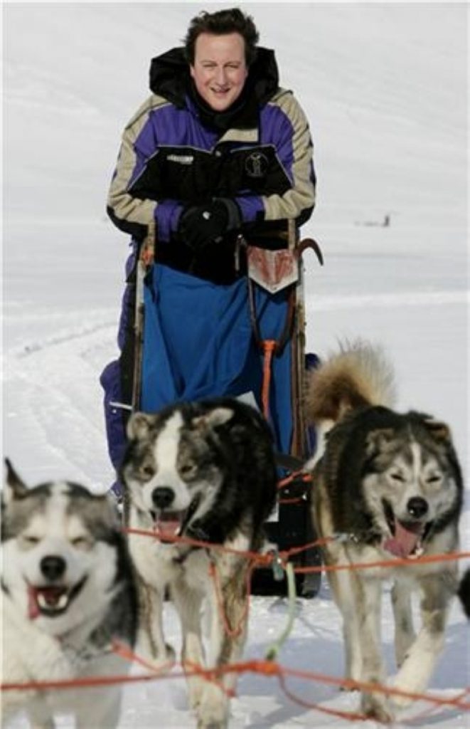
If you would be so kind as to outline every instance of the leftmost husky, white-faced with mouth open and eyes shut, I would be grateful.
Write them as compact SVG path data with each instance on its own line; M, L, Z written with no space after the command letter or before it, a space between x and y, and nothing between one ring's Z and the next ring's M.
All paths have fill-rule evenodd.
M28 488L6 464L1 724L23 711L34 729L53 729L55 714L67 712L77 729L116 727L118 684L33 687L128 671L113 642L135 644L137 592L116 507L68 481Z

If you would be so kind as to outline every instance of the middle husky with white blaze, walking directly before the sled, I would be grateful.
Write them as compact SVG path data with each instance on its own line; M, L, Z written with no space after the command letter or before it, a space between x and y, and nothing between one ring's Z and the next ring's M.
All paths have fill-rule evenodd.
M276 502L271 432L255 408L220 398L134 413L127 436L120 476L124 523L138 573L140 650L157 664L172 659L162 625L162 601L168 595L180 617L186 671L226 669L239 660L247 635L250 563L239 552L263 547L263 523ZM132 529L154 531L155 537ZM209 607L207 661L204 605ZM228 724L235 676L224 670L215 675L217 682L188 675L199 729Z

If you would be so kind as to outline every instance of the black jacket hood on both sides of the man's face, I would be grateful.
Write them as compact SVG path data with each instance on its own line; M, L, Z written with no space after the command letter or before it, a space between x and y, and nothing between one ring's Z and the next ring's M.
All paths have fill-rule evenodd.
M256 101L262 104L271 98L279 88L274 50L258 47L255 61L250 66L246 87L252 91ZM172 48L152 58L150 64L150 89L167 98L175 106L185 105L186 94L191 90L191 74L184 48Z

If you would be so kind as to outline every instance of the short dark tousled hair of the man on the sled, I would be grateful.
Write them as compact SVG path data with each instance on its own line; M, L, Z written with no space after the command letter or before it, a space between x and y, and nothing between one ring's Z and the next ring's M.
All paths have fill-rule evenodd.
M196 40L202 33L210 33L215 36L239 33L244 39L244 56L247 66L250 66L255 60L256 44L260 34L252 17L245 15L238 7L218 10L218 12L203 10L191 20L184 39L186 60L191 66L194 65Z

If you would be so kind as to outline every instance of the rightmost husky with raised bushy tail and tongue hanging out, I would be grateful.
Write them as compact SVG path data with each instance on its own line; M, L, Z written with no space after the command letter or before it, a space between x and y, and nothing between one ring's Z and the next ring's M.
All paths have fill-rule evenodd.
M419 555L458 549L461 468L445 423L424 413L399 414L394 377L381 348L344 345L311 373L308 419L324 435L311 461L312 515L324 547L332 596L343 616L346 679L385 682L381 657L381 590L393 580L394 688L422 693L442 650L455 562L419 564ZM336 538L335 538L336 537ZM407 560L393 569L354 564ZM411 593L421 590L422 627L413 631ZM389 722L408 699L362 692L362 712Z

